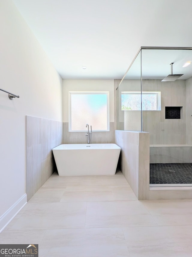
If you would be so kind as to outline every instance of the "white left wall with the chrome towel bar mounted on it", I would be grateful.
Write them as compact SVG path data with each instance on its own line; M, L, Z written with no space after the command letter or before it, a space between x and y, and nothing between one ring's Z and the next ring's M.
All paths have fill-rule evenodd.
M0 220L26 193L26 115L62 121L62 80L10 0L0 1ZM0 227L1 230L1 227Z

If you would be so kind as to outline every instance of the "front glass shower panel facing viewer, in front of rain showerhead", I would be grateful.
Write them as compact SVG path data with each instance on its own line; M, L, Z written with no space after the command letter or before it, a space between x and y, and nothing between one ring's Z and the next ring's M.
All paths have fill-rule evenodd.
M141 55L142 123L143 131L150 133L150 184L191 183L192 65L183 65L192 61L192 50L141 49Z

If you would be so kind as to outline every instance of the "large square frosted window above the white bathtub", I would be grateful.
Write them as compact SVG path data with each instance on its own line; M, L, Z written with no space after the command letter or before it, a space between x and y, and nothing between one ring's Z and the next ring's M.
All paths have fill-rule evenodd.
M69 92L69 131L109 131L109 92Z

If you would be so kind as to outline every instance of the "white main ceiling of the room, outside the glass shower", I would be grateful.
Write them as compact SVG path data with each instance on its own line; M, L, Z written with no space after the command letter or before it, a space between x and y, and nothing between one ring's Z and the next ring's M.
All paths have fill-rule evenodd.
M140 46L192 46L191 0L13 2L63 79L121 79Z

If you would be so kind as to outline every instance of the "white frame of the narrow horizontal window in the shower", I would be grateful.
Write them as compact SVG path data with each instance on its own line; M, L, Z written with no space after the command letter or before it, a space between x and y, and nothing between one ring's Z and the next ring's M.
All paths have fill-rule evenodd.
M122 91L123 95L156 95L156 110L143 110L142 111L161 111L161 91ZM121 110L122 110L122 100L121 100ZM122 110L122 111L141 111L141 110Z

